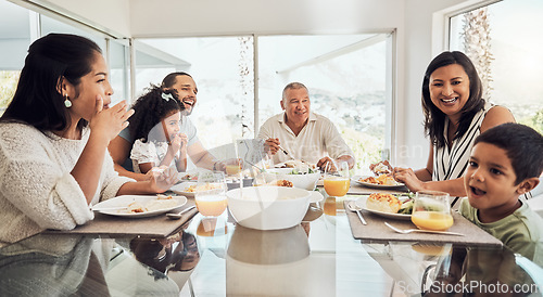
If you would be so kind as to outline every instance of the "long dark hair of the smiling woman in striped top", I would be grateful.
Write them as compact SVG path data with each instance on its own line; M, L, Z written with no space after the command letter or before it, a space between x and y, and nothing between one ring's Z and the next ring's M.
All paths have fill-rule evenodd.
M432 144L438 147L443 147L446 144L443 135L445 114L432 103L430 98L430 76L435 69L451 64L460 65L469 78L469 99L462 108L460 122L455 139L462 138L466 133L473 116L484 107L481 79L469 57L457 51L442 52L435 56L428 65L422 80L422 112L425 114L425 132L430 137Z

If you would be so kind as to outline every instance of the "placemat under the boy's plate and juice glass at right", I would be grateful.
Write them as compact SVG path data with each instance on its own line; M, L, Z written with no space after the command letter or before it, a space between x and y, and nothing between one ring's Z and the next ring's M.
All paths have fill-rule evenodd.
M349 201L344 202L344 204L346 203L349 203ZM348 209L346 205L344 206L345 209ZM366 210L361 211L364 216L364 219L368 223L366 225L362 224L358 216L356 216L354 211L345 210L353 237L356 240L362 240L364 241L364 243L400 241L421 243L454 243L459 245L503 245L501 241L490 235L482 229L478 228L456 211L453 211L454 224L447 231L462 233L465 234L465 236L416 232L402 234L392 231L390 228L384 225L384 222L388 222L393 227L400 229L416 229L417 227L411 221L383 218Z

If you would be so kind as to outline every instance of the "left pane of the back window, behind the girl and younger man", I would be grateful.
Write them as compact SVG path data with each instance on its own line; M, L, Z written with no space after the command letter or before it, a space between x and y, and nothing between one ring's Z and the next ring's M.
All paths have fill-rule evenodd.
M253 138L253 91L251 87L251 37L140 39L136 44L136 92L160 85L172 72L187 72L197 82L198 102L190 116L202 144L217 147L236 139ZM249 42L249 47L247 47ZM247 49L251 53L247 53ZM159 54L159 50L162 53ZM154 53L154 54L153 54ZM151 54L154 59L151 59Z

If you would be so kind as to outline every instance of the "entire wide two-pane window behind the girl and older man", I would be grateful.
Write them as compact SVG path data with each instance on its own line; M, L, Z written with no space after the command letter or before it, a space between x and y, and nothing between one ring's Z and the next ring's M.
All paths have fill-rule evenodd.
M171 72L190 73L199 89L190 118L204 146L216 147L253 138L267 118L281 112L282 88L291 81L303 82L310 89L312 109L336 122L362 169L390 150L392 132L387 122L392 122L392 96L387 86L391 86L391 38L336 35L138 39L136 91L141 93L149 83L160 83ZM258 60L254 61L254 56ZM254 63L258 68L256 95Z

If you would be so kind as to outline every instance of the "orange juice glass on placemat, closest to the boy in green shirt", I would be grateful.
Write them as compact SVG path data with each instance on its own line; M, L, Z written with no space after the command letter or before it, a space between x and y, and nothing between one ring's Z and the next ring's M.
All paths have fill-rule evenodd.
M420 229L445 231L453 225L449 193L419 191L415 196L411 220Z

